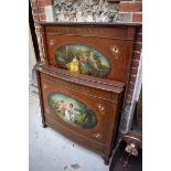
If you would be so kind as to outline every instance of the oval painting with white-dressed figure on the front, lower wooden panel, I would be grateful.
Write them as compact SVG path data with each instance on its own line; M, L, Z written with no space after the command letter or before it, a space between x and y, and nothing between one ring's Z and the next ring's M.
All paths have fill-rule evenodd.
M97 124L93 110L82 101L61 93L49 95L52 110L65 122L81 128L92 128Z

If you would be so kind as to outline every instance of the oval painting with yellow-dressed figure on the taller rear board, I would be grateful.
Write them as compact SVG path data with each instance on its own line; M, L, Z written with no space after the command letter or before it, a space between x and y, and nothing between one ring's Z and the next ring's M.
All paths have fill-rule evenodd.
M106 78L110 63L97 50L84 44L67 44L56 50L55 60L61 68L90 76Z

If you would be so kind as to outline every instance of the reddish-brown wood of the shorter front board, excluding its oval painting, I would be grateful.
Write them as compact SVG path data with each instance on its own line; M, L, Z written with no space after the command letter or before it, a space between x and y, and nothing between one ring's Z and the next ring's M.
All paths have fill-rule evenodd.
M66 72L42 64L38 64L36 71L43 125L51 126L70 139L101 153L108 161L116 140L125 84L109 81L106 83L100 78L94 81L90 76L89 79L84 79L76 74L71 78ZM62 120L50 107L47 99L52 93L66 94L86 104L95 113L97 125L84 129Z

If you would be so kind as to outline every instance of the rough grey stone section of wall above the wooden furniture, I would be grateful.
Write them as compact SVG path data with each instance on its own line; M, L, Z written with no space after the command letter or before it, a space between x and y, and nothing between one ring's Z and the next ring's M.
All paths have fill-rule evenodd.
M125 18L118 13L118 3L108 0L54 0L53 8L57 22L119 22Z

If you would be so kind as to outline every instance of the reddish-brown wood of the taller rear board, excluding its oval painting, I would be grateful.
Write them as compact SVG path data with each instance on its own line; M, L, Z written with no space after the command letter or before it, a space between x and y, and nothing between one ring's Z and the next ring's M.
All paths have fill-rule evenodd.
M136 24L108 23L41 23L45 62L58 68L55 54L66 44L88 45L109 61L111 68L106 77L127 82L129 78Z

